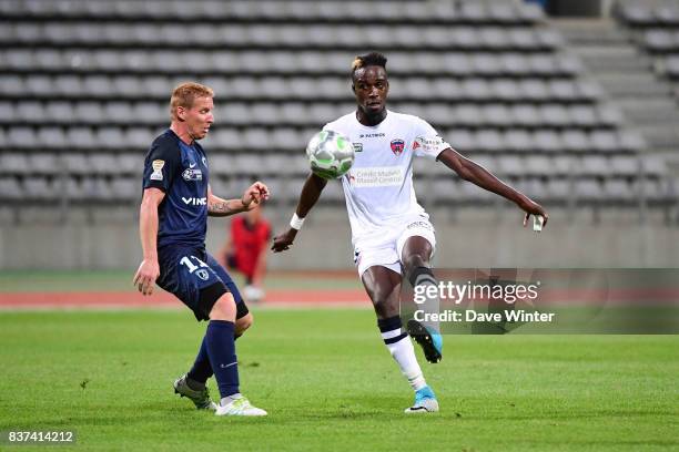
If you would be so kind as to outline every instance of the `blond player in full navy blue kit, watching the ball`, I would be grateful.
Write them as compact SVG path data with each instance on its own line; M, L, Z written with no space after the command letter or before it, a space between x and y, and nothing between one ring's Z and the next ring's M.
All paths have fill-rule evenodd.
M266 415L239 390L235 338L250 327L252 315L229 274L205 251L205 232L209 215L250 210L268 198L268 188L255 182L239 199L212 193L207 158L197 141L214 122L213 97L213 91L199 83L180 84L172 93L170 129L153 141L144 162L139 220L143 260L134 285L151 295L158 282L199 321L209 320L193 368L174 382L176 393L217 415ZM219 405L205 386L212 374Z

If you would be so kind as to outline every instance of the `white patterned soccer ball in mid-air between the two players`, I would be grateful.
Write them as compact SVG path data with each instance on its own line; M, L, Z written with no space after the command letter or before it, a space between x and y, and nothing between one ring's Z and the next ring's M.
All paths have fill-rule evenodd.
M354 145L338 132L321 131L310 140L306 158L316 176L338 178L354 164Z

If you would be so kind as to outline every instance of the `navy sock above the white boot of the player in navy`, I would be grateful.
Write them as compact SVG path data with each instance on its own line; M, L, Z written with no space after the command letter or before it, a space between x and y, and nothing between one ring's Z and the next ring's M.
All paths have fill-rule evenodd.
M235 325L227 320L210 320L205 349L222 399L239 392L239 363L233 341Z

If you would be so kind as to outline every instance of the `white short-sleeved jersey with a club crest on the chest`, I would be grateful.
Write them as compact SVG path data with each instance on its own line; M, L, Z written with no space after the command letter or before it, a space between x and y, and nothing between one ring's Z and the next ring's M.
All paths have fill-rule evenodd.
M415 197L413 157L435 160L449 145L426 121L387 111L384 121L367 126L352 112L323 130L340 132L354 144L354 165L342 177L354 246L415 216L428 219Z

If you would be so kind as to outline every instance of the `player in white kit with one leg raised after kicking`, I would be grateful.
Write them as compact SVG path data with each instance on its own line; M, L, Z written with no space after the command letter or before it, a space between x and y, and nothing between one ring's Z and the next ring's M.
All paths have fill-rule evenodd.
M442 162L462 178L513 201L530 215L547 213L526 195L465 158L450 147L424 120L386 109L389 82L386 58L379 53L356 56L352 64L352 90L357 109L325 125L354 143L356 158L342 186L352 227L355 264L373 301L384 343L415 391L408 413L438 411L438 401L417 363L408 333L422 346L429 362L442 359L443 338L415 320L403 330L399 317L401 284L407 277L413 287L436 285L430 258L436 247L434 227L417 204L413 189L413 157ZM318 201L327 181L310 174L290 228L274 238L272 249L288 249L304 218Z

